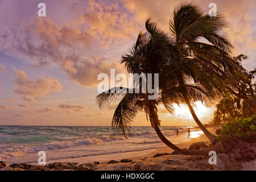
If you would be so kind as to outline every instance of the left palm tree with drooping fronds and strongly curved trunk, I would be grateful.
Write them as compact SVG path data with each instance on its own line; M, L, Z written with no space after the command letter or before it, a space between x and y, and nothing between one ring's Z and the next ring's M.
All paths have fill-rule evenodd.
M168 44L170 44L170 37L160 31L156 24L150 23L150 19L146 22L146 33L140 33L134 47L130 50L130 55L123 56L122 63L125 63L127 71L130 73L159 73L159 96L156 100L148 100L147 93L134 93L134 88L111 88L97 96L97 101L100 108L109 105L110 101L121 99L117 108L115 109L112 126L115 130L122 131L126 135L126 130L129 130L130 123L133 121L138 111L144 111L147 119L149 119L152 128L156 131L158 137L167 146L173 150L179 151L182 154L195 154L193 151L181 150L164 137L159 129L160 120L158 118L157 106L163 104L172 111L172 100L168 96L170 88L166 86L166 75L162 70L167 67L168 61L166 59L168 52ZM131 56L133 55L133 56ZM152 79L154 80L154 78ZM139 88L142 88L142 82ZM154 83L153 83L154 85ZM171 85L171 84L169 84ZM188 87L196 85L187 85ZM176 86L174 86L176 87ZM175 89L175 88L174 88ZM200 89L200 87L198 88ZM176 92L175 92L176 93ZM196 97L196 95L193 95ZM193 97L191 96L191 97ZM182 98L180 93L177 93L175 100ZM196 98L195 98L196 99Z

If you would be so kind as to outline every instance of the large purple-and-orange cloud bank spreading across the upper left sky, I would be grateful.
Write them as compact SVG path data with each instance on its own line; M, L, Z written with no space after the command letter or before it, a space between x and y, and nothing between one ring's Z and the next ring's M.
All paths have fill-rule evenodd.
M29 60L36 67L60 65L77 84L96 86L98 73L108 73L110 68L122 69L118 61L109 61L113 59L109 46L133 40L139 32L134 16L122 8L122 2L91 0L84 10L86 13L69 23L49 18L23 20L19 26L10 23L10 27L1 29L0 50ZM106 53L108 58L93 56L99 52Z

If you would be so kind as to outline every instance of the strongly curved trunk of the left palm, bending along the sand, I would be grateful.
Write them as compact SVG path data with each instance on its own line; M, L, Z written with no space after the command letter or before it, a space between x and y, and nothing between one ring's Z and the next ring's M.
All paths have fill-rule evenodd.
M177 152L180 152L180 154L183 155L209 155L209 151L216 151L218 152L223 152L224 148L222 146L222 142L217 143L216 145L205 148L203 150L183 150L179 147L177 147L175 144L171 143L159 129L159 119L158 119L158 114L156 113L156 110L154 109L154 106L150 106L150 122L152 127L154 128L156 134L162 140L164 144L166 144L168 147L172 148L172 150L175 150Z

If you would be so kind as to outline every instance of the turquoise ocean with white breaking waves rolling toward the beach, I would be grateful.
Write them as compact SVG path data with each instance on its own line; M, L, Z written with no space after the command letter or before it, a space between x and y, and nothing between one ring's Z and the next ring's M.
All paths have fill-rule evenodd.
M192 129L187 137L185 126L163 126L161 130L173 143L201 134ZM37 164L39 151L46 152L47 163L84 163L140 156L163 146L150 126L131 127L127 138L112 127L0 126L0 161L9 164Z

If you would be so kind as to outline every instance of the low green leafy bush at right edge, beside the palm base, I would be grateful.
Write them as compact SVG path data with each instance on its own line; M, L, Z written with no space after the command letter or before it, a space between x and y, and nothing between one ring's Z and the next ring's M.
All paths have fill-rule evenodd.
M256 141L256 116L250 118L238 118L233 123L226 123L220 131L218 139L237 138L242 140Z

